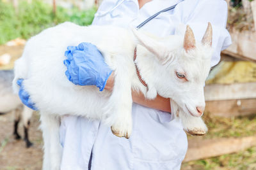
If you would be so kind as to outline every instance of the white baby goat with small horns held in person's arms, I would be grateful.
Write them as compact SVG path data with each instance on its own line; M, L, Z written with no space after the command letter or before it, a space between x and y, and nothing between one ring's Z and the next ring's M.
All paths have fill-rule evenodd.
M113 92L74 85L65 76L63 60L67 46L84 41L96 45L108 66L115 70ZM207 127L200 116L205 106L204 81L210 70L211 42L211 24L197 43L189 26L184 36L157 38L135 29L82 27L70 22L29 39L22 57L15 63L13 88L17 92L16 81L24 78L25 90L40 110L45 147L43 168L60 168L61 115L102 120L111 126L113 134L129 138L132 89L141 91L148 99L157 94L172 98L173 114L179 113L175 117L179 116L184 129L191 134L205 134ZM136 74L135 47L135 63L148 87L142 85Z

